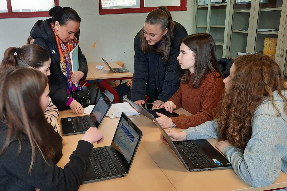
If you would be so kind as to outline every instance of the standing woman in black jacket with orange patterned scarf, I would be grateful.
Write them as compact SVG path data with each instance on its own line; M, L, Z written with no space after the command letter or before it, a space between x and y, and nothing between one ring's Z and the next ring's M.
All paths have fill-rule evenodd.
M71 108L73 113L84 113L80 103L70 93L83 90L80 80L85 80L88 65L84 54L78 47L79 69L72 70L69 53L77 46L81 18L70 7L55 6L50 9L51 19L38 20L31 30L30 36L34 44L42 46L51 57L49 88L53 103L59 110Z

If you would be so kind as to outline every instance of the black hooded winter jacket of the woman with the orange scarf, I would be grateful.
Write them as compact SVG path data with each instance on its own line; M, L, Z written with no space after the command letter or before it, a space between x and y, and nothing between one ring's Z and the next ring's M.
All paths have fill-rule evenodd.
M52 19L46 19L44 21L38 20L30 32L30 36L35 39L34 44L42 46L51 57L50 71L51 75L49 78L49 88L53 103L59 110L65 109L65 104L69 100L69 94L67 93L68 83L67 78L63 74L60 68L60 54L57 47L55 35L51 29ZM79 32L75 34L79 39ZM78 47L79 51L79 71L84 72L85 80L88 74L87 60L84 54L82 54L81 48Z

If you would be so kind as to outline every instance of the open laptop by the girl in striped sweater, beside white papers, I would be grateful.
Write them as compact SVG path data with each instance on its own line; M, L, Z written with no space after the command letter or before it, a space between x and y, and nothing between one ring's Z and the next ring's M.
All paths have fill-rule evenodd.
M90 115L61 118L63 135L85 133L90 127L99 127L111 105L110 99L102 92Z

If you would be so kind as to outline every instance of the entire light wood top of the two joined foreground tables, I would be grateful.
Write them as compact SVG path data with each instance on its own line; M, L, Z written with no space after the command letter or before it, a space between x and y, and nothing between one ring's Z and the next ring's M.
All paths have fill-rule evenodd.
M190 115L184 109L175 112ZM60 117L75 116L71 110L60 111ZM117 190L271 190L287 187L287 175L281 172L275 182L266 187L252 188L245 184L232 169L204 172L188 172L172 149L163 144L160 131L156 125L144 115L130 116L131 120L143 131L139 149L132 164L130 173L124 178L81 185L79 190L117 189ZM60 124L59 119L59 124ZM105 136L101 144L94 147L110 145L119 118L105 117L99 130ZM61 126L61 124L60 124ZM175 129L181 131L182 129ZM75 150L82 135L63 136L63 157L58 165L64 167L69 156ZM216 139L208 139L214 145Z

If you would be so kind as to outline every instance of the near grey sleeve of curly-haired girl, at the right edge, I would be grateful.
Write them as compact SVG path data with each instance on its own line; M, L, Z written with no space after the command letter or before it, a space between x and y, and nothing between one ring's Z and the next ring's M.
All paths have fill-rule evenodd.
M237 176L252 187L272 184L280 174L281 158L287 154L287 142L276 118L268 114L253 118L244 152L232 146L223 150Z

